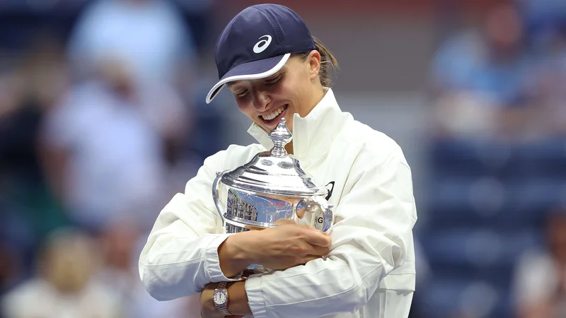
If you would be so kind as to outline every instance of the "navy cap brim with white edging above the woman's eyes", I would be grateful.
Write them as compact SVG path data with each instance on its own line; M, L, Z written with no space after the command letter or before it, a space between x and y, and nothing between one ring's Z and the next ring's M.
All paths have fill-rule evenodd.
M266 78L277 73L287 60L291 57L291 53L270 57L268 59L260 59L258 61L250 61L248 63L234 66L230 71L226 72L216 85L212 87L207 95L207 104L209 104L216 95L224 88L226 83L233 81L254 80Z

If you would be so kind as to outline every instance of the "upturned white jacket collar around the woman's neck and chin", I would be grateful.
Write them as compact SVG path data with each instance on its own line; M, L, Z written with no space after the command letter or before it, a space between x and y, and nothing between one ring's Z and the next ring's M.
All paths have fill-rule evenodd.
M293 115L293 157L305 163L324 157L335 136L340 132L345 120L352 116L342 112L332 89L328 88L324 97L306 117ZM271 149L273 143L267 132L253 123L248 129L265 149Z

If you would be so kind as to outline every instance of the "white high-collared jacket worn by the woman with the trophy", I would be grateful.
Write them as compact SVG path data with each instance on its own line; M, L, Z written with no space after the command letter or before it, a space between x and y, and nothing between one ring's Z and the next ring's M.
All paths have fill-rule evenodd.
M294 158L317 184L335 182L332 245L326 260L246 280L253 317L408 317L415 290L412 228L417 220L412 177L400 147L342 112L332 90L306 116L294 114ZM149 293L172 300L200 293L210 282L232 281L217 249L230 234L212 201L216 172L232 170L272 148L259 126L260 144L229 146L206 160L185 194L159 214L141 252L139 272Z

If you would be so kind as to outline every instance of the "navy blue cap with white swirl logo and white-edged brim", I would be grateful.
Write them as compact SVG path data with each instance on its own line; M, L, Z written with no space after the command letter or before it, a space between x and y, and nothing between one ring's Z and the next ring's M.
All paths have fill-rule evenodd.
M316 49L311 31L286 6L258 4L238 13L222 31L214 52L219 82L207 103L231 81L272 76L291 54Z

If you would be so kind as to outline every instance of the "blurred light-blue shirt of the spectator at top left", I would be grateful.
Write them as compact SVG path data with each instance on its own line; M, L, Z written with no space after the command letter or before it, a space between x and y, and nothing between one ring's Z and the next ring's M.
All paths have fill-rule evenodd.
M74 68L86 74L112 59L125 64L144 85L167 83L184 89L196 58L191 31L178 8L163 0L95 1L76 23L69 57Z

